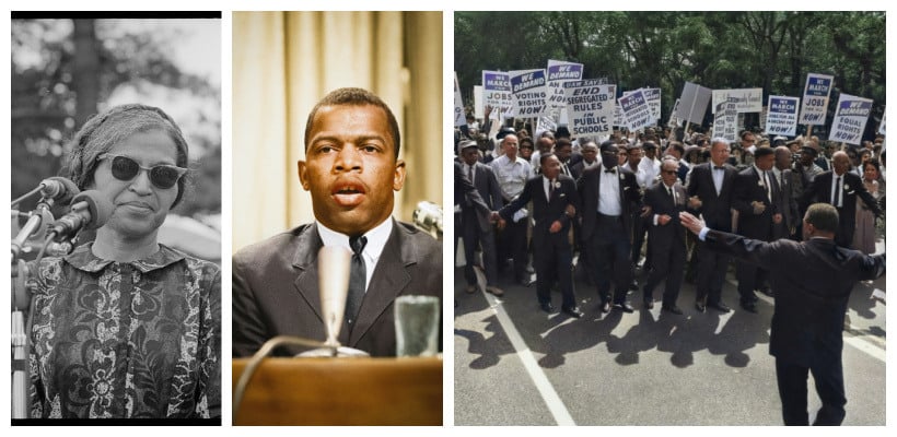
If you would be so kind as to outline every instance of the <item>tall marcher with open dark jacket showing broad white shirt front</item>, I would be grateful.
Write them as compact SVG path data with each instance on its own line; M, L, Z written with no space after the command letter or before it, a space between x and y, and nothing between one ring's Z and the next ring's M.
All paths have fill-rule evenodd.
M582 200L582 244L596 272L603 312L610 311L610 279L614 279L614 308L632 312L626 293L632 281L630 260L632 211L641 208L641 193L632 172L617 165L619 147L613 140L601 145L602 165L583 170L576 182Z

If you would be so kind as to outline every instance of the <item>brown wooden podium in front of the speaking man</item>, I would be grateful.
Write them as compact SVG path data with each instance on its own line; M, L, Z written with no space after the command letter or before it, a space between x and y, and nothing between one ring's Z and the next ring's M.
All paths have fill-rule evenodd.
M234 358L236 386L248 358ZM266 358L234 425L442 425L440 358Z

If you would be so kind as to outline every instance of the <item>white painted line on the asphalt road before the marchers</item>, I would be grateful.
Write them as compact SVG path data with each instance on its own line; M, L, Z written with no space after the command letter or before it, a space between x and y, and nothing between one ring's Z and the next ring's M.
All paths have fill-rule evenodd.
M501 323L502 329L504 329L504 332L508 334L508 340L511 341L511 345L513 345L514 351L517 352L523 367L526 369L526 373L529 374L529 378L533 379L536 389L539 390L539 394L541 394L545 404L548 405L548 411L551 412L555 422L557 422L558 425L575 425L576 423L573 422L573 417L570 416L570 412L567 411L563 401L561 401L558 392L555 391L555 387L551 386L551 382L548 381L548 377L541 371L541 367L539 367L536 358L533 356L533 352L526 346L520 332L517 332L517 328L514 327L514 322L508 317L504 306L491 294L484 294L489 302L489 306L496 311L499 323Z

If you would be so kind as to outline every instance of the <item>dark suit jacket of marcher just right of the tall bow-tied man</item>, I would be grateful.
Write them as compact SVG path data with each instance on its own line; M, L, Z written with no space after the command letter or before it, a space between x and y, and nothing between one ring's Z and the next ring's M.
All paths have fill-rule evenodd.
M738 211L738 234L748 238L758 238L765 241L772 239L772 215L782 213L781 193L779 184L771 170L767 175L772 201L762 187L760 175L754 166L747 167L735 176L732 194L732 208ZM752 202L762 202L766 206L760 214L754 213Z

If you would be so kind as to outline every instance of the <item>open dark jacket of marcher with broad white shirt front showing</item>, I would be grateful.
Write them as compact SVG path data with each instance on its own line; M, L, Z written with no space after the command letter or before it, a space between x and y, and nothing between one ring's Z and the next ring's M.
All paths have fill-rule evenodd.
M632 235L632 213L641 209L642 194L639 192L639 184L636 182L636 175L620 166L615 167L617 175L621 175L619 184L620 209L622 210L622 223L627 235ZM601 175L604 165L589 167L582 172L582 177L576 181L580 191L582 210L579 210L582 217L582 240L587 241L595 232L598 221L598 194L601 193Z

